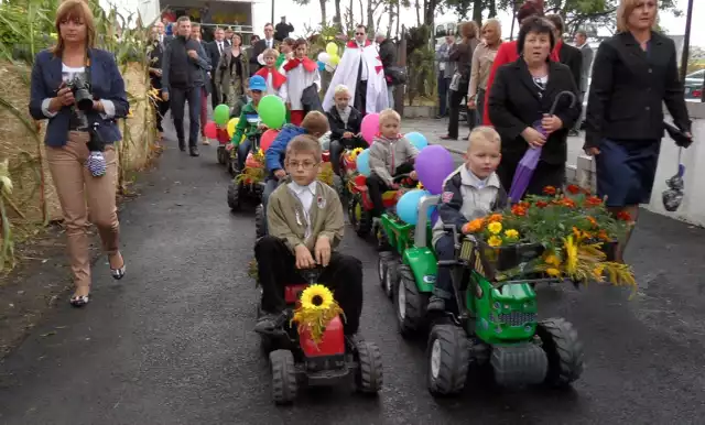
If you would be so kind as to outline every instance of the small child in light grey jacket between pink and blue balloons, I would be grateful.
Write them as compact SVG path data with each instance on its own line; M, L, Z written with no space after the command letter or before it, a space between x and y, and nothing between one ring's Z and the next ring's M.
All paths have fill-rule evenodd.
M379 115L379 134L369 150L370 176L367 178L367 187L370 200L375 209L372 217L378 218L384 212L382 193L398 189L394 176L410 173L412 179L416 178L414 160L419 150L406 138L399 133L401 117L393 109L384 109Z

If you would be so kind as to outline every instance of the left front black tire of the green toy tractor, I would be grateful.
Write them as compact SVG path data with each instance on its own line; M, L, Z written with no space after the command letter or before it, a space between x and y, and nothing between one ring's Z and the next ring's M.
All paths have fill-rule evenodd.
M426 346L426 385L434 396L455 395L465 389L470 349L465 330L436 325Z

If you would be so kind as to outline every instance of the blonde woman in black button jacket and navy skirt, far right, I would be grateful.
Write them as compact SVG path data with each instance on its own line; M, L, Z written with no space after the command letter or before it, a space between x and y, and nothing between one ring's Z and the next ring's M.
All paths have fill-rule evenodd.
M651 198L663 137L662 102L691 137L675 45L652 31L657 11L655 0L621 0L619 32L600 44L595 57L585 123L597 193L616 215L627 212L632 220L639 204ZM621 252L617 257L621 260Z

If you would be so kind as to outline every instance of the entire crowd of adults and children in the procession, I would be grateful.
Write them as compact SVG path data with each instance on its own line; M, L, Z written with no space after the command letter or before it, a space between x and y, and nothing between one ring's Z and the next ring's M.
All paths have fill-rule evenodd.
M598 195L606 197L615 214L628 211L633 218L638 205L649 200L653 185L663 135L662 101L676 127L692 138L674 43L652 30L657 11L655 0L620 1L619 31L597 52L588 94L585 150L596 159ZM543 17L540 2L527 1L518 19L520 32L514 42L502 42L499 22L489 20L479 29L475 23L462 24L462 42L455 44L449 36L438 48L443 65L438 85L452 92L453 100L448 111L455 128L448 129L448 137L457 138L458 120L453 115L464 96L468 107L478 110L466 162L447 177L438 206L440 222L454 224L460 232L478 214L511 200L506 199L506 188L530 150L540 149L540 161L528 194L539 194L544 186L560 187L565 181L567 137L578 126L579 99L587 90L590 66L584 58L589 47L583 32L576 36L578 47L563 43L560 17ZM90 290L88 209L111 275L122 279L126 273L119 251L113 143L121 139L116 119L127 116L129 105L115 56L94 45L96 29L84 1L66 0L59 6L56 31L57 45L41 52L32 70L30 112L37 120L48 120L47 157L76 283L72 304L83 306ZM360 138L362 118L379 112L379 131L369 151L375 216L383 211L381 194L395 187L394 176L415 177L417 151L401 135L402 119L389 108L393 84L386 66L395 62L393 48L386 45L383 34L377 34L376 42L368 41L367 29L359 25L322 101L318 64L307 57L304 39L278 41L274 28L267 24L264 37L250 48L243 46L241 35L223 29L216 29L213 42L204 43L199 24L187 17L176 19L174 31L170 36L163 23L154 26L149 70L153 87L160 90L158 126L162 130L162 117L171 109L182 151L186 150L186 102L193 156L198 155L199 135L207 142L200 124L207 117L208 96L213 106L225 102L231 116L240 117L229 143L236 149L240 171L250 150L248 141L267 130L258 119L261 98L279 96L290 115L290 123L265 152L262 201L269 236L258 242L256 257L265 290L262 307L269 314L258 329L281 320L285 274L279 273L318 263L332 266L332 279L346 282L347 295L336 295L350 297L339 302L346 307L347 333L355 334L355 315L361 310L360 265L333 253L343 236L343 208L337 195L315 182L321 165L317 139L330 132L332 162L340 173L335 166L337 157L345 149L367 146ZM243 134L246 141L240 143ZM441 235L443 228L436 230L434 243L442 255L447 238ZM431 308L444 308L448 297L445 277L438 276Z

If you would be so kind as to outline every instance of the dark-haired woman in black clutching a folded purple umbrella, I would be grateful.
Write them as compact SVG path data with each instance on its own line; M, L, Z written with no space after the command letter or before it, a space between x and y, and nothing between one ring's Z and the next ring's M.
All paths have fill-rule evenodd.
M577 96L571 69L551 62L555 45L552 24L543 18L527 19L519 31L519 59L497 70L489 95L489 118L502 138L502 161L497 174L509 190L517 165L530 148L542 148L527 194L538 195L545 186L560 187L565 181L568 130L581 116L581 107L561 97L554 115L549 115L563 91ZM541 124L546 135L534 128ZM519 200L519 199L514 199Z

